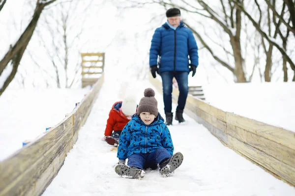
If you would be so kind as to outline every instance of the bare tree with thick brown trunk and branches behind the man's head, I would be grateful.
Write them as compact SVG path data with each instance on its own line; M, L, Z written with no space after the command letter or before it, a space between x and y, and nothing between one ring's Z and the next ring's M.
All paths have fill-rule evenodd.
M243 0L240 0L241 2ZM241 12L240 9L234 6L233 3L227 0L220 0L219 7L220 10L217 10L216 7L212 7L207 4L204 0L196 0L199 7L194 6L193 3L190 3L189 0L149 0L148 2L139 2L132 1L134 4L131 7L140 7L148 3L158 3L164 7L178 7L181 10L184 10L191 14L198 14L202 17L203 20L211 19L215 22L220 28L223 29L223 32L230 39L230 46L232 48L231 52L225 50L225 53L231 53L232 58L234 59L234 66L230 62L226 62L223 59L223 56L214 52L212 46L207 44L206 39L202 36L197 28L195 28L189 21L184 21L184 24L189 27L193 33L198 37L202 45L209 51L212 57L220 63L222 66L226 67L231 71L236 77L236 82L246 82L246 75L244 70L244 58L241 51ZM207 37L208 39L208 37ZM225 49L225 48L224 48Z

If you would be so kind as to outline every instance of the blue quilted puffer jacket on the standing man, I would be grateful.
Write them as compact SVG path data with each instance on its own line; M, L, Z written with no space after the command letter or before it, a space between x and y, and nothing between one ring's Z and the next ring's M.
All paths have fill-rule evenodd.
M149 66L157 65L158 56L160 73L189 72L189 64L198 67L198 46L192 31L185 27L183 22L180 22L176 30L166 23L157 28L151 40Z

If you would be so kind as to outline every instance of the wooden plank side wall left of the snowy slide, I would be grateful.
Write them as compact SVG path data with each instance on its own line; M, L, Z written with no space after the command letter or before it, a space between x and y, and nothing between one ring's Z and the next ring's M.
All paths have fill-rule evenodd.
M44 192L76 143L103 80L102 75L58 125L0 162L0 196L38 196Z

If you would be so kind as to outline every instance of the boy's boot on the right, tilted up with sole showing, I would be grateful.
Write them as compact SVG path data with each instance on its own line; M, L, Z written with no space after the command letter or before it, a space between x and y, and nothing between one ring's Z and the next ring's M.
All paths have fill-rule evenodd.
M183 155L181 152L175 153L172 157L159 164L160 173L163 177L168 177L170 173L174 172L181 165L182 161Z

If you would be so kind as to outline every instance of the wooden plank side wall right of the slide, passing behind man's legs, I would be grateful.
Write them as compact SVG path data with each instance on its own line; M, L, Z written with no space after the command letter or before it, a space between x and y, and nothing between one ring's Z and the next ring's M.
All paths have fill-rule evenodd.
M149 81L162 93L159 80L149 76ZM176 89L172 97L177 102ZM184 111L207 127L223 145L295 186L295 132L222 111L190 95Z

